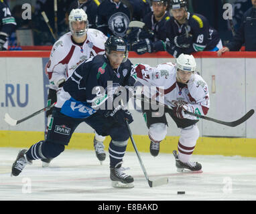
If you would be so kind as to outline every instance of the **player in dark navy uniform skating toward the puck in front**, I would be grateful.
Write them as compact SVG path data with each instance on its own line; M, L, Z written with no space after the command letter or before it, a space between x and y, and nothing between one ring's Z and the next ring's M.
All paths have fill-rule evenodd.
M133 117L120 103L121 99L123 103L129 100L128 87L135 83L135 72L121 37L109 37L105 52L80 64L66 80L58 94L46 140L37 142L29 150L21 150L11 175L19 175L32 160L58 156L68 145L76 126L86 122L98 134L111 136L109 159L113 187L133 187L133 177L121 170L129 139L125 120L131 123Z

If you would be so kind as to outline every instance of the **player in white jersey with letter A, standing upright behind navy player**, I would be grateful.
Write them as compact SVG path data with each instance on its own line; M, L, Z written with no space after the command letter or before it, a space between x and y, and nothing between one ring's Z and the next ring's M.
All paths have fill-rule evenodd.
M57 101L56 92L62 88L65 80L73 71L90 57L105 54L107 37L97 29L88 28L87 15L83 9L72 9L68 17L70 31L52 47L50 60L46 65L46 74L50 81L48 106ZM52 110L46 112L48 126L52 120ZM46 136L47 130L46 128ZM97 158L102 162L106 158L103 141L105 137L94 132L94 148ZM43 167L48 167L51 159L42 159Z

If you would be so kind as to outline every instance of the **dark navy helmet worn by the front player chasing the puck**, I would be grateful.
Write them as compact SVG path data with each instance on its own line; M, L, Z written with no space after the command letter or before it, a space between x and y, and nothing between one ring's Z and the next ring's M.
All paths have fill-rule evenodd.
M125 62L128 58L128 45L122 37L111 35L105 42L106 54L111 54L111 51L125 51Z

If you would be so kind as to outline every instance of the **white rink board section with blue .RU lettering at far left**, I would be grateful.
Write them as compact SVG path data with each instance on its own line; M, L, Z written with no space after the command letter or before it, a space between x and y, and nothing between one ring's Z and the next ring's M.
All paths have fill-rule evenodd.
M0 68L1 73L6 74L0 82L0 130L43 131L44 114L17 126L9 126L3 120L6 112L14 119L21 119L46 105L42 58L0 58Z

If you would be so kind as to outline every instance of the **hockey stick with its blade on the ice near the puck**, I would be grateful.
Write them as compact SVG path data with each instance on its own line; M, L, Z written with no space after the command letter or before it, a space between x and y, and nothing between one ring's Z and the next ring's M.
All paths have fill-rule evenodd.
M143 171L143 173L145 175L145 178L147 179L147 183L149 184L149 187L157 187L157 186L160 186L160 185L168 184L168 177L157 179L156 181L150 181L149 180L149 177L147 175L147 171L145 170L145 167L144 167L143 162L141 160L141 156L139 155L139 151L138 151L137 146L135 144L135 141L133 139L133 134L131 134L131 128L130 128L129 123L128 123L127 120L125 120L125 124L127 126L127 129L129 130L129 136L131 138L131 143L133 144L133 148L134 148L134 150L135 150L135 152L137 154L137 158L139 160L139 164L141 165L141 169L142 169L142 171Z

